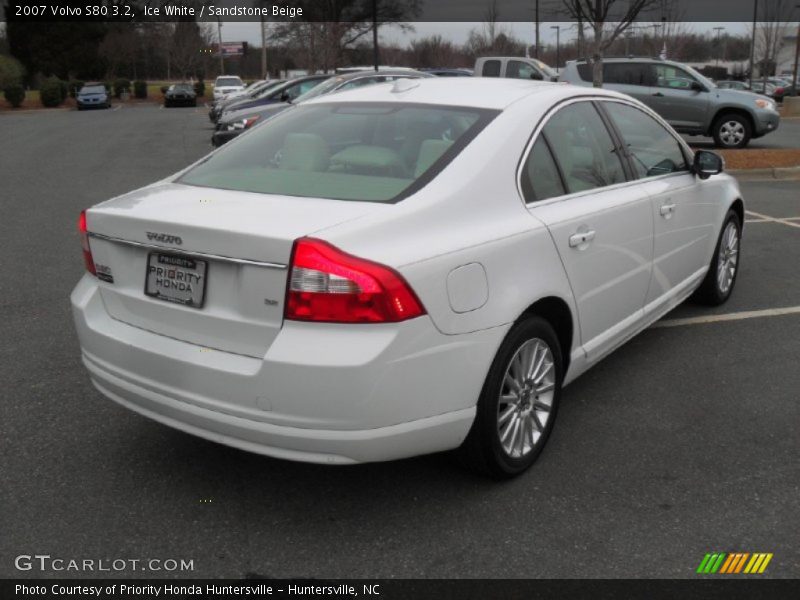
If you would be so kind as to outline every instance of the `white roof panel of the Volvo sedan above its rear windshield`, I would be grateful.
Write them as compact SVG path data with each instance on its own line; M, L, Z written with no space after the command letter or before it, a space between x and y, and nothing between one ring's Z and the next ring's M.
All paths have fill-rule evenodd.
M550 105L570 96L626 96L610 90L583 88L564 83L501 79L495 77L440 77L415 79L413 85L398 86L399 82L376 84L320 96L303 104L332 102L398 102L409 104L438 104L503 110L531 95L541 95L542 104Z

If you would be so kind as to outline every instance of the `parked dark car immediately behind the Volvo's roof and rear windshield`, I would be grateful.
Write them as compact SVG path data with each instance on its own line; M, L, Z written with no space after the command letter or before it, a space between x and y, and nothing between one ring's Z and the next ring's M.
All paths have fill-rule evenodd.
M273 103L228 113L225 118L220 119L217 123L217 129L211 137L211 144L213 146L222 146L254 125L261 124L283 112L292 104L301 104L306 100L326 94L351 90L365 85L386 83L398 79L418 79L420 77L433 77L433 75L410 69L397 71L385 69L377 73L375 71L353 71L344 75L336 75L291 102Z

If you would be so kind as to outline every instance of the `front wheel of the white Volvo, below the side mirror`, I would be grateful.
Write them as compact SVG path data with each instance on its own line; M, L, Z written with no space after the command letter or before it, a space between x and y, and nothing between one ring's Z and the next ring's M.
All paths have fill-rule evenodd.
M731 297L741 263L741 240L742 224L739 215L730 210L725 216L708 273L694 294L695 300L708 306L719 306Z

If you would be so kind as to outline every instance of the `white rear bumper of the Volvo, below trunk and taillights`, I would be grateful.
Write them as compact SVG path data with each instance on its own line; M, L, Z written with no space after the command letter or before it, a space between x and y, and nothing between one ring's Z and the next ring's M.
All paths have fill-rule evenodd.
M83 362L110 399L209 440L326 464L458 447L505 335L445 336L428 317L369 330L287 322L258 359L116 321L89 275L72 307Z

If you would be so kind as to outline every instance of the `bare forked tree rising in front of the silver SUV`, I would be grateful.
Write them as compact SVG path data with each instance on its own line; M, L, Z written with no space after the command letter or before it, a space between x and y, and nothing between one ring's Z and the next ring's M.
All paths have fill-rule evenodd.
M592 59L594 87L603 87L603 55L628 29L642 10L661 0L562 0L569 16L586 23L594 37L587 42Z

